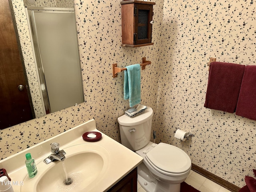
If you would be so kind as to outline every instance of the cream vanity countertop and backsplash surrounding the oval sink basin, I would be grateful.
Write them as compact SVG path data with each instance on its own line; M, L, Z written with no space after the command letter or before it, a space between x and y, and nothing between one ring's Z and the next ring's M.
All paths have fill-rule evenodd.
M110 165L107 174L104 174L104 178L101 178L99 182L93 181L95 182L94 187L90 189L84 189L86 190L86 192L107 191L143 161L143 158L141 156L126 148L122 144L116 142L112 138L106 136L102 132L100 132L102 134L102 138L99 141L84 141L82 139L82 134L88 131L100 132L96 129L94 120L85 122L66 132L63 132L57 136L54 136L48 140L36 144L31 148L28 148L26 150L23 150L22 152L19 152L6 159L1 160L0 168L6 169L8 175L12 179L11 183L14 192L20 192L23 186L30 184L30 182L26 183L26 180L24 180L24 178L28 175L25 166L25 154L30 152L32 158L35 158L36 164L40 163L40 168L42 168L43 166L47 168L49 164L41 165L41 163L44 158L50 155L50 144L52 142L60 143L60 150L78 144L98 144L108 150L110 154ZM55 162L51 162L50 164L54 163ZM38 168L38 175L40 171L43 170L40 170ZM37 180L38 175L36 175L34 178L31 178L30 180ZM31 188L34 188L34 186L31 186Z

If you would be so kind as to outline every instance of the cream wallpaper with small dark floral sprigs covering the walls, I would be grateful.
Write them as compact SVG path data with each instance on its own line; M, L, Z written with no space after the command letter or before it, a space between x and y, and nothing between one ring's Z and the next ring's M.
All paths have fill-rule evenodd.
M20 38L29 47L24 7L21 0L12 2ZM152 64L141 73L141 98L142 104L154 110L156 142L182 148L192 163L242 187L244 176L252 176L256 167L255 121L204 108L206 64L210 57L255 63L255 2L158 0L154 6L154 45L140 48L120 46L120 0L74 3L86 102L2 130L0 157L92 118L100 131L120 142L117 118L129 102L123 100L124 74L112 78L111 65L124 67L146 57ZM194 137L181 142L174 138L176 128L190 131Z

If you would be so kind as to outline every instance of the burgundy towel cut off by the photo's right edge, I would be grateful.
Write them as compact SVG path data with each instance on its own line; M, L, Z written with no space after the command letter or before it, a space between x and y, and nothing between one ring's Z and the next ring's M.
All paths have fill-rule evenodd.
M256 120L256 66L248 65L238 97L236 115Z

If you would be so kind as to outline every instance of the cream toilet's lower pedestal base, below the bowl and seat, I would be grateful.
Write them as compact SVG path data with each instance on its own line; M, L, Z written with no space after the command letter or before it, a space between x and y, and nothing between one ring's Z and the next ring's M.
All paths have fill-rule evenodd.
M146 192L180 192L180 183L170 184L156 180L144 163L138 166L138 182Z

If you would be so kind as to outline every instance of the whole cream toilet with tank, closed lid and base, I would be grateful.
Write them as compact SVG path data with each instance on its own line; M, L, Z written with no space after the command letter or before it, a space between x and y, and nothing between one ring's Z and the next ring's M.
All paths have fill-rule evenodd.
M150 142L153 110L130 118L118 118L121 142L144 158L138 166L138 182L147 192L180 192L180 183L191 169L189 156L180 148Z

